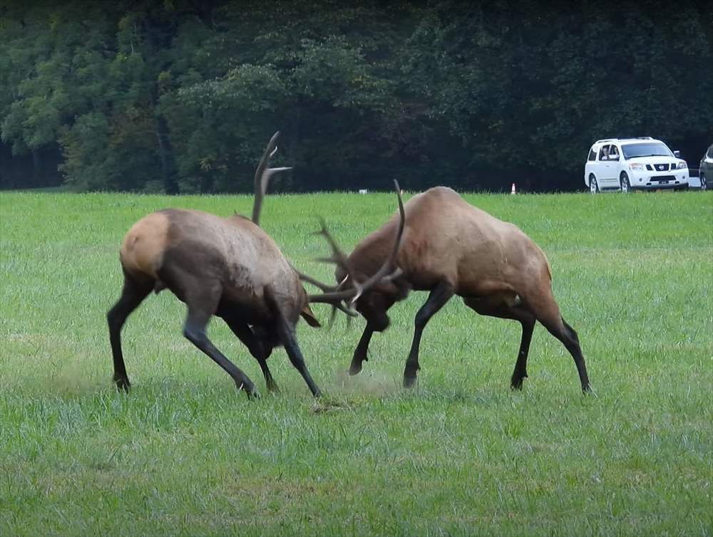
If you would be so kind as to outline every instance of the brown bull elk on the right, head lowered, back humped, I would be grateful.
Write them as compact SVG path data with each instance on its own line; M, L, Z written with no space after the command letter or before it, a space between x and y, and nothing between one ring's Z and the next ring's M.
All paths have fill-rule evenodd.
M386 312L414 289L430 294L416 314L414 340L404 369L405 387L414 385L420 369L419 345L426 323L453 295L458 295L481 315L518 320L522 325L520 352L511 379L513 388L520 389L523 378L528 376L530 340L535 321L539 321L573 356L582 390L589 390L579 339L560 316L548 261L523 231L473 207L446 187L417 194L405 209L406 229L391 266L398 272L368 291L361 290L361 282L376 273L389 256L399 217L394 215L366 236L349 256L342 254L323 229L332 244L332 261L337 264L335 276L340 285L321 285L329 292L310 300L332 305L347 301L366 319L349 368L351 375L359 373L367 360L371 335L388 328Z

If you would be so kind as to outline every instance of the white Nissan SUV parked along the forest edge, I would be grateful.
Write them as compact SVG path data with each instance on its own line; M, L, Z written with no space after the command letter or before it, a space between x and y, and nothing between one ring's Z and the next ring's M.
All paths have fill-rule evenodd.
M584 182L592 194L604 190L688 189L688 166L661 140L611 138L589 150Z

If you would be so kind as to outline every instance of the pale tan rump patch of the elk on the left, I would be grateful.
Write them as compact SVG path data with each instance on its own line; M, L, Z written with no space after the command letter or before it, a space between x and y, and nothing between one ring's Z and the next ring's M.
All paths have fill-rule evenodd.
M136 222L124 237L119 254L121 264L129 273L158 278L168 241L168 217L152 213Z

